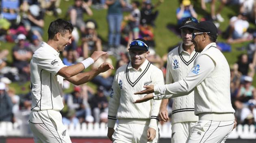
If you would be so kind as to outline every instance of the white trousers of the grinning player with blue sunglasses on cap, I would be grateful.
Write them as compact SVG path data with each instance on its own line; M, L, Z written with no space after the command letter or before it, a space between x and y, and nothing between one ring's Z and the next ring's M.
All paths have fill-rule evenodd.
M125 123L128 123L124 121ZM147 141L147 130L149 122L145 124L123 124L123 121L119 120L119 124L115 129L112 136L113 143L158 143L159 141L159 129L156 130L156 137L153 141ZM138 122L137 122L138 123Z

